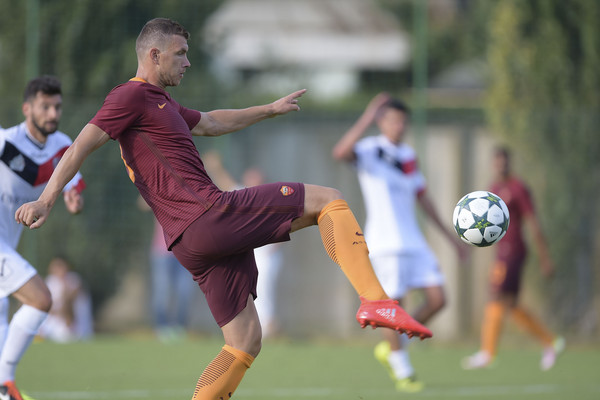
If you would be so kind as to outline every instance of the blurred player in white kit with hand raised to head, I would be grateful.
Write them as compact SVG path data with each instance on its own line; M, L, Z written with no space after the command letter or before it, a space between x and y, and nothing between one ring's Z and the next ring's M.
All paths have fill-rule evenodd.
M417 221L415 202L456 248L461 259L467 248L443 224L426 194L425 178L417 167L415 151L406 143L409 109L386 93L375 96L356 123L333 149L337 160L352 162L367 211L365 237L373 268L387 295L402 301L411 289L423 292L424 302L411 315L425 323L444 307L444 278ZM377 136L362 138L375 123ZM407 350L408 338L385 329L375 357L384 365L396 389L417 392Z

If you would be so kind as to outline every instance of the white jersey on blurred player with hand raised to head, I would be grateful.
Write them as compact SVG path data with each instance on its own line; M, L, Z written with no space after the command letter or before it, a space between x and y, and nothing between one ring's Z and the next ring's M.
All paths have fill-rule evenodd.
M358 141L354 153L371 255L428 250L415 212L417 195L425 190L415 151L379 135Z

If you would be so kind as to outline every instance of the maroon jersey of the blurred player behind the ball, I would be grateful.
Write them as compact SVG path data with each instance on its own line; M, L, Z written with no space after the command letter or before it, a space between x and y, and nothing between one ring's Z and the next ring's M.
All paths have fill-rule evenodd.
M525 254L523 238L523 219L533 212L533 201L528 188L517 178L510 177L506 181L495 182L491 192L504 200L510 213L510 225L506 235L496 245L499 259L508 259ZM517 256L519 258L519 256Z

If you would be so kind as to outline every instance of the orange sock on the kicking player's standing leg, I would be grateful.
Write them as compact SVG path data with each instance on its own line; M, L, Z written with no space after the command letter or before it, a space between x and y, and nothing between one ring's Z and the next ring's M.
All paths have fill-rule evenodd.
M229 399L238 387L254 357L231 346L208 364L194 390L192 400Z

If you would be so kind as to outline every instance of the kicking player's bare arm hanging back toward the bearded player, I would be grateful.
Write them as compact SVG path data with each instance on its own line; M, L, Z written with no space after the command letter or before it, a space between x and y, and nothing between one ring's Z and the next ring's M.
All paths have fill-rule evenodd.
M19 207L15 213L17 222L31 229L42 226L65 185L81 168L83 160L109 139L110 137L102 129L87 124L60 159L40 197Z

